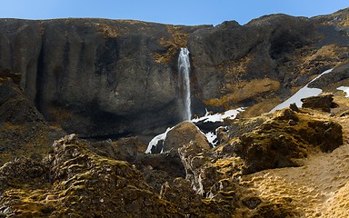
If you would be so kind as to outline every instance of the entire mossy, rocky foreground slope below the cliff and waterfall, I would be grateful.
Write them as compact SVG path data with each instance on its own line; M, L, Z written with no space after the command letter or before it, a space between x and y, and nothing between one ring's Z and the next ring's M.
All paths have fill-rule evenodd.
M18 155L0 168L0 214L346 217L349 126L339 112L349 101L336 99L336 115L293 106L226 120L214 148L189 122L168 133L162 154L145 154L135 137L65 135L46 144L48 154Z

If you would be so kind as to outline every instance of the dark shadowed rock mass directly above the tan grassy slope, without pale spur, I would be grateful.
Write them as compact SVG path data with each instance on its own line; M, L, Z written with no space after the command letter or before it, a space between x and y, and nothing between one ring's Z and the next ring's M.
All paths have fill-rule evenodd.
M332 152L343 144L342 126L329 120L313 120L284 109L229 145L244 160L243 173L297 166L312 146Z

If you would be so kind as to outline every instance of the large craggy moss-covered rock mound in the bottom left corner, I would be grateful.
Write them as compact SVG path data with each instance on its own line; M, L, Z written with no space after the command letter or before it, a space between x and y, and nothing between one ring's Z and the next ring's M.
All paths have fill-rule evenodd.
M2 213L10 217L184 217L131 164L89 152L73 134L42 163L18 159L0 174Z

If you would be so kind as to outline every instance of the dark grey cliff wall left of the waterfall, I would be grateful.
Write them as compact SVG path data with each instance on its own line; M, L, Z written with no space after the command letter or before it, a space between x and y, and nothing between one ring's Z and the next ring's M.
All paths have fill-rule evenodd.
M22 74L25 94L68 132L157 134L180 120L176 55L203 27L3 19L0 68Z

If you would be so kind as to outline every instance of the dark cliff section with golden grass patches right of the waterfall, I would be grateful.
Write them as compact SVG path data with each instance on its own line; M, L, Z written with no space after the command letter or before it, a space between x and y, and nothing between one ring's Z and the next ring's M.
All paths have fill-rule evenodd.
M187 45L194 68L195 108L277 102L312 75L345 62L347 28L330 23L330 16L268 15L246 25L224 22L194 32Z

